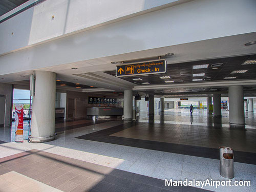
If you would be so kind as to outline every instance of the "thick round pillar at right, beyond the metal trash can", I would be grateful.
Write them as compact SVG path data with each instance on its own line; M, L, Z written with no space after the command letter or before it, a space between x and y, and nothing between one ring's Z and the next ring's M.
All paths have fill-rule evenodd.
M243 86L230 86L228 88L229 124L231 126L245 125L244 120L244 93Z

